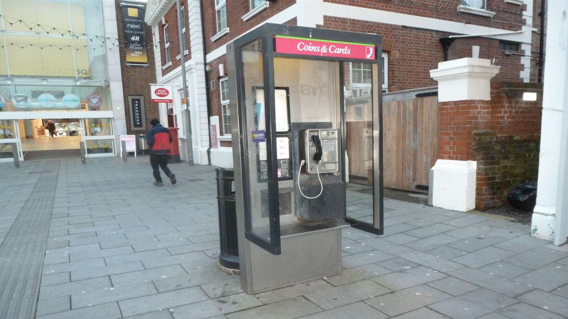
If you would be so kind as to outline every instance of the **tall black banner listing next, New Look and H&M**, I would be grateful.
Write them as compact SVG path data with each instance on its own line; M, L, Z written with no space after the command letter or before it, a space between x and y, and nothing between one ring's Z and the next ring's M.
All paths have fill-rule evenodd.
M144 8L122 6L122 23L124 25L124 39L126 40L127 64L148 65L146 52L146 32L144 24Z

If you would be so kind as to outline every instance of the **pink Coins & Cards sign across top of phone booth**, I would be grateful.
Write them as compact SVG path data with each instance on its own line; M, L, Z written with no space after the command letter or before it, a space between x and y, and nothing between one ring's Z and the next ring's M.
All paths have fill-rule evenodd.
M345 41L276 36L276 52L307 56L346 57L375 60L375 45Z

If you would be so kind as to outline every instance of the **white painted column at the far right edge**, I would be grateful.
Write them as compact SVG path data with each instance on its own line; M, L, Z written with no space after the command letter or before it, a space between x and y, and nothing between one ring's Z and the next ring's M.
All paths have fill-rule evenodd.
M568 232L565 220L568 217L568 194L564 194L566 188L563 185L566 177L567 115L564 110L568 103L568 2L549 1L547 6L538 191L531 229L533 236L546 240L554 239L555 232L559 232L556 234L558 240L555 240L558 245L560 241L566 241ZM555 225L555 221L559 224ZM562 236L563 240L559 238Z

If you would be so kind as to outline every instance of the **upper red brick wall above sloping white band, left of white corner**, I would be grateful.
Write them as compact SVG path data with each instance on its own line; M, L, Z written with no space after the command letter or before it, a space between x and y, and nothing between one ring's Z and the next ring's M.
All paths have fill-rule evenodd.
M206 41L207 53L222 47L223 45L231 42L235 37L247 32L248 30L256 27L271 16L294 5L296 0L277 0L270 1L268 8L262 10L257 15L243 21L242 16L250 11L248 0L227 0L227 27L229 33L220 37L216 41L211 41L211 37L217 34L217 18L215 15L215 1L205 0L203 3L203 23L204 23L204 36Z

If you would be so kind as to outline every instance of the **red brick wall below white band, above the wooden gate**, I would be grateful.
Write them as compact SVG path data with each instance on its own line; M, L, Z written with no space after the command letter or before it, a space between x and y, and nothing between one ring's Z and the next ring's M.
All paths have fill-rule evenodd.
M374 23L364 20L324 16L324 24L318 26L334 30L371 32L383 36L382 51L389 53L389 92L435 86L430 70L444 61L444 51L439 39L451 33ZM499 49L499 40L485 38L456 39L450 47L449 59L471 57L471 45L481 47L480 57L497 58L502 66L495 81L522 82L519 72L524 68L520 56L507 56Z

